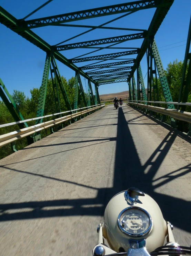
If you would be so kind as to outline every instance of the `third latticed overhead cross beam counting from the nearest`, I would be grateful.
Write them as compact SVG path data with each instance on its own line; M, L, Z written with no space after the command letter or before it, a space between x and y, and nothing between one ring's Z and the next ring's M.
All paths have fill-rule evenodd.
M116 52L116 53L110 53L110 54L104 54L104 55L98 55L98 56L91 56L86 58L79 58L79 59L71 59L72 63L78 63L83 61L92 61L92 60L104 60L108 58L116 58L119 56L127 56L132 54L139 53L139 50L132 50L132 51L126 51L126 52Z

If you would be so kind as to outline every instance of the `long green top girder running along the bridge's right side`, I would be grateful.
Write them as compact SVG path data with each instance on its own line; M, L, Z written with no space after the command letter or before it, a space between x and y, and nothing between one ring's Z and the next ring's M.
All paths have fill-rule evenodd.
M162 24L163 19L167 15L167 12L169 11L170 7L172 6L174 0L163 0L160 2L160 5L155 10L155 13L153 15L153 18L151 20L151 23L149 25L149 28L147 30L148 36L154 37L157 33L157 30L159 29L160 25ZM145 52L148 48L148 42L149 37L145 37L143 40L143 43L140 48L140 53L137 55L137 58L135 59L135 63L132 67L132 71L129 76L129 80L133 77L133 74L135 70L137 69L137 63L140 63Z

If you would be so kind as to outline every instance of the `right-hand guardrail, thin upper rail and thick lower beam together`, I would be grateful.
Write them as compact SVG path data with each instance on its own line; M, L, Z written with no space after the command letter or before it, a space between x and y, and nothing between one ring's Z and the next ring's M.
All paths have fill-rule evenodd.
M136 100L133 100L135 102L137 102ZM144 100L139 100L141 102L146 102L146 103L162 103L162 104L174 104L174 105L187 105L187 106L191 106L191 103L178 103L178 102L163 102L163 101L144 101ZM153 112L157 112L163 115L167 115L167 116L171 116L174 119L177 120L181 120L181 121L185 121L188 123L191 123L191 113L190 112L185 112L185 111L181 111L178 109L170 109L170 108L163 108L163 107L156 107L156 106L150 106L150 105L145 105L145 104L140 104L140 103L134 103L132 102L132 100L128 100L127 101L128 104L134 105L134 106L138 106L141 108L146 108L149 109Z

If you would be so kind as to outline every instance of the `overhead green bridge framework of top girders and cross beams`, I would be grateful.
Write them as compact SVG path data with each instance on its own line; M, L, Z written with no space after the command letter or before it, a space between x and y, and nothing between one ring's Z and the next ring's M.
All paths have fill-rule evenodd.
M96 80L94 78L90 77L91 75L96 75L96 74L109 74L111 72L118 72L118 71L123 71L123 70L130 70L129 78L130 80L133 77L133 74L135 70L137 69L137 65L140 63L141 59L143 58L147 47L148 47L148 42L150 37L154 37L155 33L157 32L158 28L160 27L165 15L167 14L169 8L171 7L173 3L173 0L139 0L139 1L132 1L132 2L127 2L127 3L121 3L121 4L116 4L116 5L111 5L111 6L105 6L105 7L100 7L100 8L93 8L93 9L88 9L88 10L81 10L81 11L76 11L76 12L69 12L66 14L60 14L60 15L52 15L48 17L42 17L42 18L37 18L37 19L29 19L26 20L26 18L30 17L34 12L31 12L31 14L27 15L23 19L16 19L13 17L11 14L9 14L6 10L3 8L0 8L0 22L4 24L5 26L9 27L11 30L16 32L17 34L21 35L22 37L26 38L28 41L33 43L34 45L38 46L41 48L43 51L49 53L54 56L55 59L61 61L63 64L67 65L69 68L74 70L75 72L79 72L79 75L83 76L84 78L88 79L92 83L96 84ZM40 7L41 8L41 7ZM40 9L39 8L39 9ZM142 28L128 28L127 26L123 27L109 27L109 23L114 23L115 21L124 18L126 16L131 17L131 14L134 12L137 12L139 10L145 10L145 9L150 9L154 8L155 12L152 18L152 21L148 27L148 29L142 29ZM86 19L91 19L94 18L99 18L102 16L109 16L109 15L114 15L118 14L118 16L115 16L116 18L113 18L110 21L107 21L101 25L91 25L91 24L78 24L77 22L79 20L86 20ZM121 15L121 16L119 16ZM112 16L114 17L114 16ZM73 21L76 23L74 24ZM70 23L70 24L68 24ZM127 23L129 24L129 23ZM82 28L87 28L89 30L80 33L78 35L74 35L71 38L62 40L62 42L50 45L48 42L45 42L42 38L40 38L37 34L35 34L31 29L39 28L39 27L44 27L44 26L60 26L64 28L64 26L69 26L69 27L82 27ZM87 34L88 32L91 32L95 29L100 29L103 31L103 29L111 29L112 31L112 37L101 37L96 39L96 40L82 40L78 41L77 43L69 42L71 39L74 40L78 36L83 36L84 34ZM115 31L122 31L124 30L125 32L127 30L134 31L135 33L130 33L125 35L120 35L120 36L115 36L113 35ZM84 37L85 39L86 37ZM125 45L128 41L129 43L132 42L131 40L135 39L142 39L143 43L142 45L139 46L140 49L134 47L134 44L132 44L133 47L129 47L129 45ZM76 39L75 39L76 40ZM103 47L102 45L106 45ZM119 46L119 44L122 44ZM118 47L119 46L119 47ZM76 49L81 49L83 48L84 50L87 49L87 53L81 54L79 56L72 56L72 58L66 58L61 54L61 51L66 52L67 50L76 50ZM111 49L129 49L129 51L122 51L122 52L108 52L105 53L105 51L111 51ZM89 52L90 50L93 50L92 52ZM104 51L104 54L102 55L93 55L91 56L91 53L97 52L97 51ZM112 50L113 51L113 50ZM75 52L76 53L76 52ZM137 55L134 60L125 60L121 62L111 62L108 63L110 60L113 59L113 61L117 61L116 59L119 56L126 56L130 54L135 54ZM124 57L123 57L124 58ZM84 61L91 62L93 60L99 60L102 62L101 64L94 65L96 63L86 65L85 67L78 67L74 63L80 63ZM123 59L122 59L123 60ZM104 63L104 61L107 61L107 63ZM133 63L133 67L129 69L129 67L124 67L123 65L125 63ZM118 70L106 70L109 67L112 66L121 66L119 67ZM91 71L91 69L94 69L94 71ZM96 69L102 69L101 71L97 71ZM86 70L87 72L84 72L83 70ZM90 71L89 71L90 70Z

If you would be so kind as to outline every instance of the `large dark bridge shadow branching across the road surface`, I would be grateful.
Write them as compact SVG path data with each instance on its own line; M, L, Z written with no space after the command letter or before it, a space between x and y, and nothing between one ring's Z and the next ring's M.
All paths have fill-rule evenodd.
M130 125L130 124L129 124ZM48 218L48 217L66 217L73 215L92 215L103 216L104 209L109 200L120 191L128 187L138 187L145 193L148 193L159 204L163 216L166 220L171 221L174 226L179 227L185 231L190 232L190 212L191 202L184 200L184 198L175 198L170 195L160 194L154 191L175 178L181 177L191 171L191 165L179 168L163 177L154 179L159 170L165 156L167 155L176 134L172 131L165 136L160 145L155 149L144 165L141 165L138 152L129 129L127 120L125 119L123 109L119 108L116 150L115 150L115 166L113 186L108 188L89 187L97 190L96 198L82 198L82 199L61 199L50 201L32 201L21 203L0 204L0 221L23 220L33 218ZM99 141L99 140L98 140ZM83 142L83 141L82 141ZM105 142L99 142L105 143ZM108 142L109 143L109 140ZM144 145L143 145L144 146ZM109 147L109 145L108 145ZM83 148L83 147L82 147ZM155 159L153 161L153 159ZM9 166L3 166L11 171L22 172L20 170L12 169ZM149 171L145 170L149 167ZM181 173L180 173L181 171ZM172 176L173 173L179 172ZM55 179L39 174L25 172L29 175L38 175L41 178L49 178L57 180L58 182L70 183L67 180ZM165 180L162 180L166 178ZM153 185L153 181L162 180L157 185ZM73 183L76 186L84 186L82 184ZM179 210L177 211L177 206ZM22 209L22 211L20 210ZM26 209L23 211L23 209ZM180 216L184 216L184 221L180 222Z

